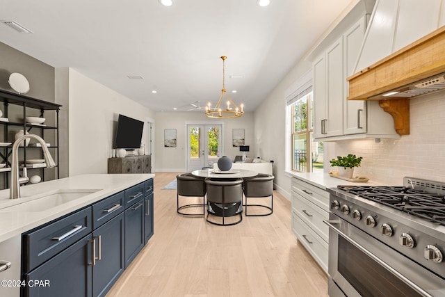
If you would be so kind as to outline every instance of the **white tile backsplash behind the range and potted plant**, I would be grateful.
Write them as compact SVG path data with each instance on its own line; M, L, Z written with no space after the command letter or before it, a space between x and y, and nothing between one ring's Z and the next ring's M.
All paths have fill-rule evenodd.
M363 156L355 175L401 185L403 177L445 182L445 92L410 99L410 135L399 140L374 139L325 143L325 170L336 156Z

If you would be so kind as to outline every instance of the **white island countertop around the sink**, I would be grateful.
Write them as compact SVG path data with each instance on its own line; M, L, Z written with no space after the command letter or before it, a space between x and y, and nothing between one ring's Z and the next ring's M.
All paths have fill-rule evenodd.
M154 174L97 174L77 175L63 179L54 179L40 184L20 187L21 197L9 199L9 189L0 191L0 242L22 234L51 220L70 214L82 207L102 200L133 185L154 177ZM32 200L33 196L55 190L86 192L81 198L49 207L42 211L17 211L22 203ZM93 193L88 193L95 190ZM19 204L17 204L19 203ZM17 207L14 206L17 204Z

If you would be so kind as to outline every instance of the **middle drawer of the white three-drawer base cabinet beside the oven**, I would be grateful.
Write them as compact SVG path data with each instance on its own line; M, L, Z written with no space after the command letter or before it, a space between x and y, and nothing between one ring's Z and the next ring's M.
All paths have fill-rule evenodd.
M292 211L321 236L324 241L328 242L329 227L323 223L323 220L329 220L327 211L296 193L292 193Z

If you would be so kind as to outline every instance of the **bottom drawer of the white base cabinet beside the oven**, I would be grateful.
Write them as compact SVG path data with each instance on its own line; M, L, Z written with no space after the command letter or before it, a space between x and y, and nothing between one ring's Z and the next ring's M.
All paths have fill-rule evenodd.
M325 273L327 273L327 243L300 220L295 213L292 213L292 231Z

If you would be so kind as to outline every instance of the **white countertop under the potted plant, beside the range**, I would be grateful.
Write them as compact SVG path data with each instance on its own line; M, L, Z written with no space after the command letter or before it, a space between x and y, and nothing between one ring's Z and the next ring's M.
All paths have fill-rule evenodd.
M344 179L331 177L327 172L290 172L293 177L301 179L304 182L312 184L318 188L337 188L339 185L353 185L353 186L384 186L380 182L348 182Z

